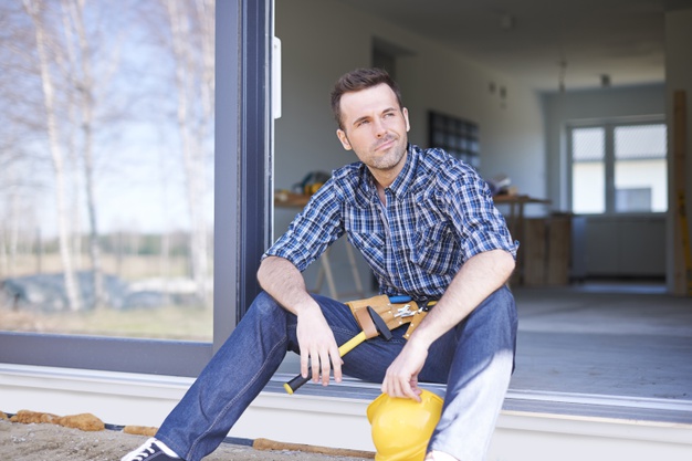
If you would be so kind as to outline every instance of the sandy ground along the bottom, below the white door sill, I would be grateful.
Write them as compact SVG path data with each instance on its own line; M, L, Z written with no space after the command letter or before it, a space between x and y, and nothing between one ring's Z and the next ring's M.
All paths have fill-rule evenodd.
M7 461L119 461L147 440L120 430L83 431L53 423L21 423L0 419L0 459ZM298 450L256 450L222 443L205 461L357 461L368 458Z

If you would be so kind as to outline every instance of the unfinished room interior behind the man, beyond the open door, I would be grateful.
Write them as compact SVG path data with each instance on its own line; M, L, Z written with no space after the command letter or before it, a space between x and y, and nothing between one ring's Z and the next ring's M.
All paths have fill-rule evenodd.
M539 406L552 411L690 422L692 302L674 280L683 251L671 240L668 169L672 91L680 83L671 78L678 60L671 20L689 13L674 8L690 6L429 7L421 14L397 1L276 6L284 88L275 122L276 189L300 192L310 171L354 161L334 133L329 85L350 67L388 69L409 108L411 143L434 147L450 135L431 134L431 114L470 123L478 128L478 151L463 150L462 158L489 180L511 181L508 201L496 199L522 244L512 280L521 334L508 407L536 405L536 392L546 392L552 397L541 397ZM319 56L318 69L308 64L313 56ZM647 167L650 179L656 168L663 175L660 186L651 186L662 193L662 208L651 198L657 192L642 208L622 208L615 197L602 208L593 196L579 205L587 189L627 193L629 186L612 179L578 185L570 136L611 124L663 127L658 149L668 166ZM275 206L274 231L281 233L296 209ZM371 290L367 269L347 247L339 241L326 262L306 272L313 286L345 300Z

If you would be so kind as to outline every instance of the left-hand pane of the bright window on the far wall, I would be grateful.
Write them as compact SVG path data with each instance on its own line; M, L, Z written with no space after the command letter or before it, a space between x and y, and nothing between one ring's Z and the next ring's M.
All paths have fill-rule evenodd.
M572 132L572 209L575 213L606 211L605 129Z

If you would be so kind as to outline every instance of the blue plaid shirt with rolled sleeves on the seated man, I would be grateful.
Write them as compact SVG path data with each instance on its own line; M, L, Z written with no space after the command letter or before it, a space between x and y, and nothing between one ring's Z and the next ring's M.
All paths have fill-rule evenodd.
M516 258L518 242L485 181L441 149L409 145L403 169L385 192L387 205L360 161L335 170L263 258L282 256L304 271L346 234L380 293L413 298L439 298L474 254L501 249Z

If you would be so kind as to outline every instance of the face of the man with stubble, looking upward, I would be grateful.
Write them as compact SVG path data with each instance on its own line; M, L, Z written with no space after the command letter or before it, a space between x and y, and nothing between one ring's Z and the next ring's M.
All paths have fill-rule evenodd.
M342 145L378 171L398 174L403 168L408 144L408 111L399 107L394 91L380 84L342 96Z

